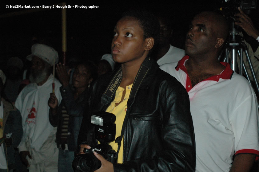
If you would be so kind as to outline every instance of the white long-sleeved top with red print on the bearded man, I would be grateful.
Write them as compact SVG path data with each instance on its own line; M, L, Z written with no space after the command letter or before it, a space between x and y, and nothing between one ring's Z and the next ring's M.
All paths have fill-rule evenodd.
M27 85L20 92L15 101L15 107L22 115L23 135L22 141L19 144L19 151L26 151L26 138L30 139L30 148L37 151L53 131L54 127L49 121L48 100L52 92L53 75L51 74L48 80L41 86L36 83ZM58 99L58 104L62 100L59 88L61 84L55 79L55 95ZM28 151L28 150L27 150Z

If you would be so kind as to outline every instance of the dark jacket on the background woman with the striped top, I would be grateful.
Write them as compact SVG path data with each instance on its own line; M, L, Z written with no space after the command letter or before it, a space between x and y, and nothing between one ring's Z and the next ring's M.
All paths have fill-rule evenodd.
M69 151L75 151L77 147L77 138L80 130L83 114L88 112L88 89L82 92L79 97L74 100L74 92L70 86L60 87L62 100L58 106L57 115L49 113L50 124L57 127L56 143L57 147L61 144L61 127L63 123L62 107L65 106L69 115L67 146Z

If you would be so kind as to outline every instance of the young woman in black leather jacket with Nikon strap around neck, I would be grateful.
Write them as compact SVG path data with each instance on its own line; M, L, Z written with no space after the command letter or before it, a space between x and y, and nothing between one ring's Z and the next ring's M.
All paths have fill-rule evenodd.
M102 75L90 89L90 112L82 119L79 154L98 144L92 114L116 115L118 163L94 151L100 171L194 171L195 141L185 88L148 57L157 41L159 23L152 14L131 11L114 28L113 60L121 68ZM117 145L120 144L120 147Z

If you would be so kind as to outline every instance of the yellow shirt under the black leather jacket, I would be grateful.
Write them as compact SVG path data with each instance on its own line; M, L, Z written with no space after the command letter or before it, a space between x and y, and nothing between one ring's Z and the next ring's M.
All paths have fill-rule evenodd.
M121 136L121 131L122 131L122 124L126 115L126 111L127 111L127 101L130 97L130 91L132 88L133 84L130 84L126 87L126 93L124 96L123 101L115 107L116 103L119 103L122 100L122 92L124 91L124 88L122 87L118 87L118 89L116 90L115 93L115 98L114 101L111 102L110 106L106 109L106 112L110 112L113 113L116 116L116 134L115 134L115 139L118 136ZM117 152L118 150L118 143L115 143L115 141L111 142L110 145L112 146L112 148ZM122 163L123 162L123 138L122 138L122 142L121 142L121 148L118 154L118 163Z

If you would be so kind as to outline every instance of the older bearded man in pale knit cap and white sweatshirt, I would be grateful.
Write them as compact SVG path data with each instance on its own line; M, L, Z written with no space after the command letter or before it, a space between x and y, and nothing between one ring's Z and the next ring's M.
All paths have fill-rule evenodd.
M62 99L59 91L61 84L50 72L51 66L58 63L58 52L43 44L32 45L31 52L26 57L32 62L31 84L20 92L15 101L15 106L22 115L24 131L18 148L21 159L30 172L57 172L57 128L52 127L49 122L48 99L53 91L58 103Z

